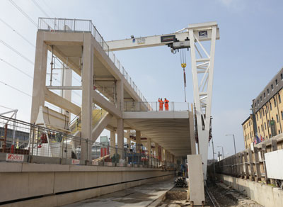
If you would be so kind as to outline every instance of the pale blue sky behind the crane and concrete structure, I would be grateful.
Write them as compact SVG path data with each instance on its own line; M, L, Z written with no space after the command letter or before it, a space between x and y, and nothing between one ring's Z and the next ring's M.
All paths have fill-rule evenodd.
M173 33L188 23L217 21L221 38L216 42L213 136L214 145L224 146L225 155L233 154L233 139L225 137L226 133L234 133L237 151L243 150L241 123L250 113L251 101L283 66L283 1L36 1L45 13L31 0L13 1L36 23L45 13L57 18L91 19L105 40ZM10 1L0 1L0 18L35 45L37 28ZM34 47L1 21L0 28L0 40L33 62ZM156 101L158 97L183 101L179 54L173 55L168 47L116 54L148 101ZM33 76L33 65L2 43L0 59ZM190 67L186 73L187 97L192 102ZM0 81L32 94L32 79L3 61L0 61ZM18 108L18 118L29 121L29 96L1 83L0 94L1 106ZM209 157L212 157L211 150Z

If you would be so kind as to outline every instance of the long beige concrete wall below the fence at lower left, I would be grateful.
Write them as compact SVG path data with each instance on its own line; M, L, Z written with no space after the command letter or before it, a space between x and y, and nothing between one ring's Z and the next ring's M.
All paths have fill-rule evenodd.
M19 199L26 200L21 203L33 203L28 199L34 197L33 200L40 199L43 206L59 206L137 186L153 179L169 178L173 174L172 171L143 167L1 162L0 204L11 201L13 203L8 206L14 206ZM69 196L70 202L68 195L73 195ZM56 205L47 205L45 199L50 199L48 202L56 201Z

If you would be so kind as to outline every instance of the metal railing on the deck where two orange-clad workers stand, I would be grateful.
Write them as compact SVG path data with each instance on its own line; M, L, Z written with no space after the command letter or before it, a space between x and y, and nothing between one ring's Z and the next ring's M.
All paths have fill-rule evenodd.
M169 102L168 105L161 105L157 101L124 101L124 111L189 111L190 105L187 102Z

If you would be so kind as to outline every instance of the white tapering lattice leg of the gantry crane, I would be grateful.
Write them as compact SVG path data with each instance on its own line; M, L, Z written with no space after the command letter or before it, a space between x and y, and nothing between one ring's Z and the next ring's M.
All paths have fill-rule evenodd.
M199 33L202 32L202 30L200 30L200 26L202 26L202 24L196 26L197 30L199 30ZM189 26L189 35L192 61L192 80L194 86L195 114L197 116L198 146L199 154L202 155L202 167L204 179L206 180L217 24L209 23L207 25L203 25L203 27L204 30L207 30L208 27L212 29L210 54L208 54L204 46L200 43L200 40L194 34L193 25ZM200 47L197 47L197 44ZM196 56L196 52L198 54L198 57ZM201 78L200 82L199 78ZM202 125L202 120L204 121L204 125Z

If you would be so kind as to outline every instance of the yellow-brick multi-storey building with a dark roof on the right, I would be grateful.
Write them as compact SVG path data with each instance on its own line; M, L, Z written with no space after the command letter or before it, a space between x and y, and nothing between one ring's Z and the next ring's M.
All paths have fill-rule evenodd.
M283 68L253 99L253 113L242 123L245 147L249 148L255 135L267 140L282 133L283 128Z

